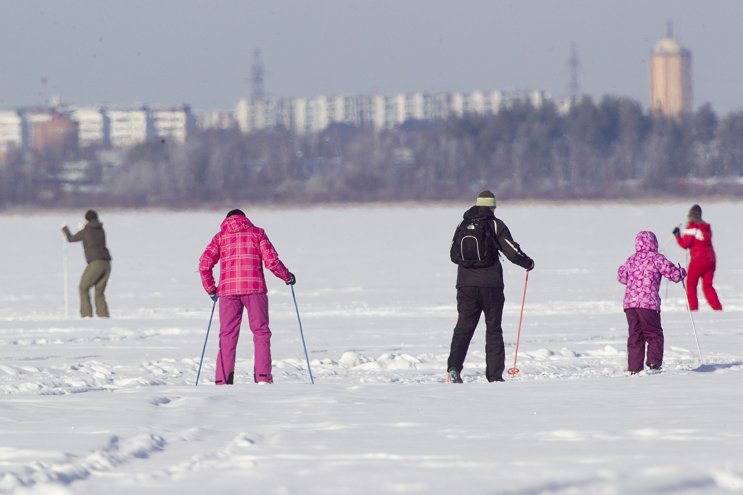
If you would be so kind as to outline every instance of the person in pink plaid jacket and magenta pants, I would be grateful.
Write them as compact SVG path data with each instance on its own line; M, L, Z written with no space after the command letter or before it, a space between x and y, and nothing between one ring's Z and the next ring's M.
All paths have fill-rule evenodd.
M215 286L212 269L217 261L219 285ZM243 308L247 309L247 321L256 347L253 380L259 384L273 383L264 264L287 285L295 283L294 275L279 260L266 232L254 226L237 209L227 214L220 232L198 260L204 290L212 298L219 298L219 353L215 376L218 385L233 384Z

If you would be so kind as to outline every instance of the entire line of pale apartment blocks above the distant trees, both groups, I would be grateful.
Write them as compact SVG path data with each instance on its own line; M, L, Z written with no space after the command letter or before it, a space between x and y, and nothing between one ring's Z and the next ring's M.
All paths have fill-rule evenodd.
M241 99L234 112L192 113L178 107L117 106L0 110L0 152L15 147L42 149L51 144L127 147L149 140L185 142L194 128L239 128L245 134L283 126L296 134L322 131L334 123L393 128L408 120L434 121L467 113L497 114L515 102L542 105L551 96L539 90L471 91ZM558 102L567 110L567 100ZM565 108L562 108L565 107Z

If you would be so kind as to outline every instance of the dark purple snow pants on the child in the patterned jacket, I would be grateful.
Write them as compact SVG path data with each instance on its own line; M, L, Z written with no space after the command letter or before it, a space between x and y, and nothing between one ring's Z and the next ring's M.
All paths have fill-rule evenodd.
M663 329L661 313L655 309L628 308L624 312L629 324L627 339L627 367L630 371L642 371L645 344L648 344L647 364L663 364Z

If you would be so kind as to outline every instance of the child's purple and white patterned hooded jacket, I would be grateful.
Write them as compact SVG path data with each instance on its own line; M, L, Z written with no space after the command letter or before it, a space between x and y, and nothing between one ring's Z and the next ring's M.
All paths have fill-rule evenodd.
M627 286L624 293L624 309L645 308L661 310L661 275L675 283L687 276L687 271L674 266L665 256L658 253L658 239L655 234L643 231L635 237L637 252L619 267L617 280Z

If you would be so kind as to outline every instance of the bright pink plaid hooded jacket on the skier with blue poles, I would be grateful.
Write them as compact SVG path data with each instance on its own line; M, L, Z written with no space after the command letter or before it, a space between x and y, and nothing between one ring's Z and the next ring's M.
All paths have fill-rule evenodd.
M282 281L289 280L289 270L279 260L279 254L266 237L266 232L253 225L247 217L237 214L222 222L198 260L201 283L207 292L214 291L212 269L219 261L217 295L245 295L267 292L263 263Z

